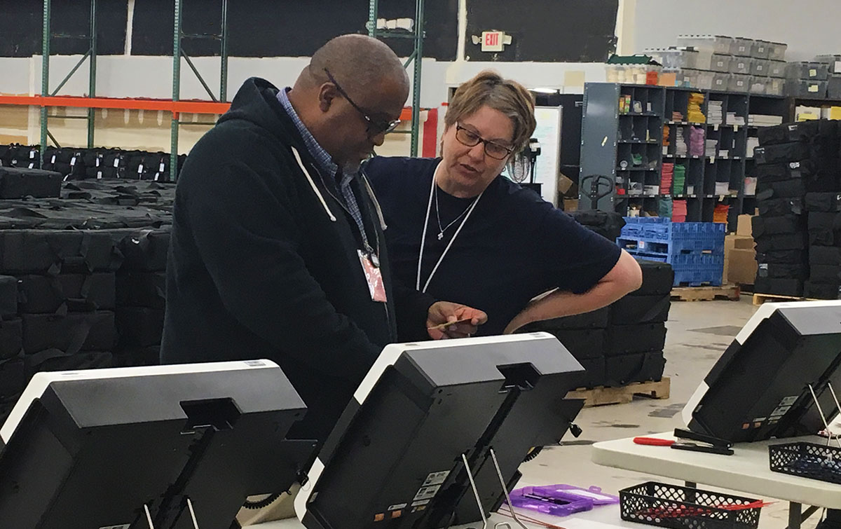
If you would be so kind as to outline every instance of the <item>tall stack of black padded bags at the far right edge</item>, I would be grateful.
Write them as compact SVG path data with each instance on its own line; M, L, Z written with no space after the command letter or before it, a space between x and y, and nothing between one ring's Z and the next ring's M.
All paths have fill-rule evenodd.
M841 201L838 123L822 119L764 127L759 145L754 151L759 216L752 220L759 264L755 291L837 295L841 278L827 265L814 266L809 249L841 246L841 223L833 216Z

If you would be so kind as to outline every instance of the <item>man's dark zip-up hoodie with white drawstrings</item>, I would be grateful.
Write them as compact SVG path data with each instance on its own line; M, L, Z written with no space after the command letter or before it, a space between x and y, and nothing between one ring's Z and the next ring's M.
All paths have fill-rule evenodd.
M388 304L371 299L357 224L277 99L251 78L178 178L161 361L277 362L308 407L294 435L323 441L396 321L416 336L433 302L394 285L373 193L354 179Z

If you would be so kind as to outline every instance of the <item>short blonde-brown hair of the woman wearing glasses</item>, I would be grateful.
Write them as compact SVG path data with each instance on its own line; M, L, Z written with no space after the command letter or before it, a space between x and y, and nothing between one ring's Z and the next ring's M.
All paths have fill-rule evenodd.
M511 119L514 125L511 148L514 151L523 149L537 125L534 119L534 98L519 82L503 79L495 71L481 71L458 87L447 107L444 124L448 129L484 105L499 110Z

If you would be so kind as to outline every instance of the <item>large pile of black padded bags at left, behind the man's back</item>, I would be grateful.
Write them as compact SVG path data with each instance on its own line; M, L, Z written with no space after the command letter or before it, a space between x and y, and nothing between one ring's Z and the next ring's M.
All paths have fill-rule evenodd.
M109 156L53 155L86 171ZM0 420L39 371L158 363L175 197L172 184L56 173L8 192L3 175L21 172L43 174L0 167Z

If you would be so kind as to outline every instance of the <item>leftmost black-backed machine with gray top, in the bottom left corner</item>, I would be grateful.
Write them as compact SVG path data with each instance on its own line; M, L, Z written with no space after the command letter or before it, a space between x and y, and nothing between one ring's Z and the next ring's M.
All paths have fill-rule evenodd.
M200 527L230 529L246 495L294 482L304 411L277 366L53 382L0 454L0 527L134 529L148 505L156 529L192 528L190 497Z

